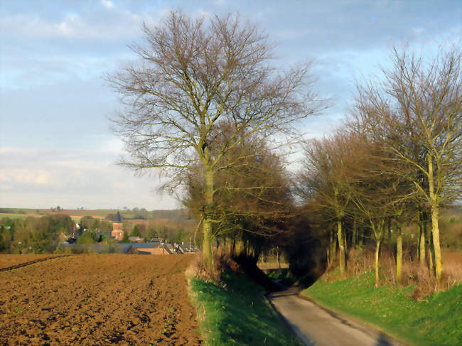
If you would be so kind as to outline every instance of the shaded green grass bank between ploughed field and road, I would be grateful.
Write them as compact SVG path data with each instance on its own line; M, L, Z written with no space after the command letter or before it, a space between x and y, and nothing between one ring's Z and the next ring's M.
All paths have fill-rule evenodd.
M245 274L225 272L221 281L189 281L205 345L302 345Z

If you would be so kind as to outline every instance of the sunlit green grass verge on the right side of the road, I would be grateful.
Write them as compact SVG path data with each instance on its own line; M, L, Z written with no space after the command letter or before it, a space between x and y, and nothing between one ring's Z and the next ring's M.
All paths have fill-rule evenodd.
M377 326L410 345L461 345L462 285L411 298L414 286L374 288L372 272L350 279L318 280L302 291L322 306Z

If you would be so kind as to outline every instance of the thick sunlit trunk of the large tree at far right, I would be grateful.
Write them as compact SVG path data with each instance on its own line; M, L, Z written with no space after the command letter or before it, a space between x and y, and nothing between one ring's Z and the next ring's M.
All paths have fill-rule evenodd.
M434 176L433 176L433 161L429 156L429 193L430 193L430 208L431 208L431 235L433 240L434 250L434 265L436 282L441 283L441 274L443 274L443 263L441 262L441 247L439 244L439 205L435 194Z

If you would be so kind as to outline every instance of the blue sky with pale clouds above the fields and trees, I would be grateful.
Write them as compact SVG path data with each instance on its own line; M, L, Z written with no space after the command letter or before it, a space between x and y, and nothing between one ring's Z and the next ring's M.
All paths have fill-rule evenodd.
M426 53L462 36L461 1L0 0L0 207L181 207L155 172L117 166L108 119L120 106L104 80L135 58L142 23L172 10L238 12L276 43L277 64L313 60L313 88L331 107L305 121L307 136L341 123L355 81L387 66L394 45Z

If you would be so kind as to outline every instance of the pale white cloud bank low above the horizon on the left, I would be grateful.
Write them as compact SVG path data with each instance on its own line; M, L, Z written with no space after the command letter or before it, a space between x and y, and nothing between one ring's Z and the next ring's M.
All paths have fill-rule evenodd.
M111 146L113 146L111 148ZM171 209L178 202L154 191L160 181L115 165L119 141L90 151L0 147L0 205L3 207Z

